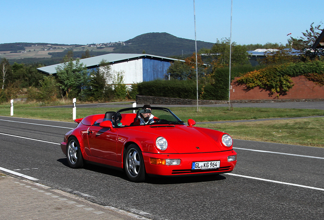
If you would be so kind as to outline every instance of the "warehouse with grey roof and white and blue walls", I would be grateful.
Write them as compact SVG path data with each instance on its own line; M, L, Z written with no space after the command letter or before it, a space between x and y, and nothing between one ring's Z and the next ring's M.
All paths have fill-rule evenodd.
M80 63L86 65L88 69L94 69L99 67L102 60L111 64L113 73L123 72L124 84L130 85L164 78L171 63L177 59L142 53L109 53L80 59ZM62 66L62 64L40 67L37 70L45 74L56 75L56 68Z

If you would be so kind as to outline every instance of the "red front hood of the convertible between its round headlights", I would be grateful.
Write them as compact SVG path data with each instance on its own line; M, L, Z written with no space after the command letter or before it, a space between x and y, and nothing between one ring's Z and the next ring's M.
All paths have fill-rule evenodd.
M225 148L220 143L224 132L217 130L186 125L145 126L141 130L165 137L168 141L168 149L172 148L177 153L204 153L232 149ZM171 149L165 153L168 153L168 151L171 151Z

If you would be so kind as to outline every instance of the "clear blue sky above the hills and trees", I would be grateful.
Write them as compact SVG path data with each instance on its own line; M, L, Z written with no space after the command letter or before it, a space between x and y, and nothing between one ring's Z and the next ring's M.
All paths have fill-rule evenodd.
M322 0L233 0L232 41L286 44L324 22ZM231 0L195 0L197 40L230 37ZM0 5L0 43L88 44L150 32L195 39L193 0L10 0ZM324 25L322 25L324 28Z

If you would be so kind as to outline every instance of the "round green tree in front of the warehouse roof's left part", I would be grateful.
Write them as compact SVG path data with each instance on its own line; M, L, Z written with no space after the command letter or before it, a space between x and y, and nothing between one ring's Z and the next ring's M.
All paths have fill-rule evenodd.
M89 78L87 67L83 66L83 63L80 63L79 59L73 61L70 58L68 62L63 63L62 66L58 66L56 71L59 79L59 87L64 95L66 95L66 98L68 98L70 92L73 92L74 96L78 96L87 85Z

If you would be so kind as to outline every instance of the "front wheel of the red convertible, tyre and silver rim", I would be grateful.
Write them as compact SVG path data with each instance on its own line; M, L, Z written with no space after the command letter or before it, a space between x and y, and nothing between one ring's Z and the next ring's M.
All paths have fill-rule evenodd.
M131 144L124 155L124 169L127 177L132 182L143 182L145 180L145 166L141 149Z

